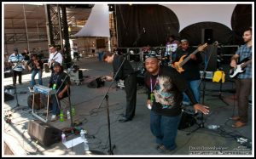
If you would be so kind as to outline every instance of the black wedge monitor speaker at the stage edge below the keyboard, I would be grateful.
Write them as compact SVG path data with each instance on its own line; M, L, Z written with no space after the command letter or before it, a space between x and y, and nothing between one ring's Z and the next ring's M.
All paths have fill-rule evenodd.
M42 145L49 146L61 140L62 131L58 128L50 126L48 123L41 121L29 121L28 134L32 139L37 139Z

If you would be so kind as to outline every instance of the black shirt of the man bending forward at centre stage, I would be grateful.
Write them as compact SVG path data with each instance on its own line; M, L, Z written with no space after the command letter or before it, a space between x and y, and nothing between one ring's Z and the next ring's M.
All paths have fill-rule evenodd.
M119 70L119 66L122 64L124 58L125 57L122 56L122 55L116 55L115 54L113 56L113 75L115 75L116 72ZM134 73L134 70L133 70L130 62L128 60L125 60L124 64L122 65L122 67L119 71L119 74L117 75L115 80L116 81L118 81L119 79L125 80L125 77L127 77L128 75L130 75L132 73Z

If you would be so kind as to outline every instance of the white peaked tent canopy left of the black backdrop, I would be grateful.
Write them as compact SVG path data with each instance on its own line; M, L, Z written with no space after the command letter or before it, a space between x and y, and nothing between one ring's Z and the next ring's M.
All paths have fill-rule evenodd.
M95 4L84 27L74 37L110 37L108 4Z

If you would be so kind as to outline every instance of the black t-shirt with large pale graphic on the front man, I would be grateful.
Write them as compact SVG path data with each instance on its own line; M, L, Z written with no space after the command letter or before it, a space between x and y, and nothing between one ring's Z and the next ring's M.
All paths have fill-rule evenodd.
M150 81L152 81L152 91ZM176 70L172 67L160 66L157 76L146 72L145 84L148 88L148 99L151 92L154 94L152 111L163 116L177 116L181 113L183 92L188 88L188 84Z

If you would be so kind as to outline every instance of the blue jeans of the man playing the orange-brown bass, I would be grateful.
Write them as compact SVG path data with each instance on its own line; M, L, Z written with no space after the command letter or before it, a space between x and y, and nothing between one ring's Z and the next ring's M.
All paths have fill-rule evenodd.
M200 87L199 87L200 81L201 81L200 79L189 81L189 87L192 89L192 92L195 96L195 100L197 102L200 102ZM185 93L183 93L183 102L190 103L190 99L188 95Z

